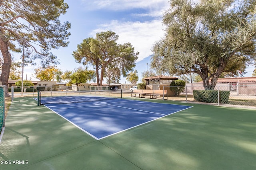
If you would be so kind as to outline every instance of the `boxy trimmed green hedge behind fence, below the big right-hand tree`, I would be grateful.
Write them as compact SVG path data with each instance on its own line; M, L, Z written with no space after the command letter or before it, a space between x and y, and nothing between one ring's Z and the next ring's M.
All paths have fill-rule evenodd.
M227 104L230 91L193 90L194 99L198 102Z

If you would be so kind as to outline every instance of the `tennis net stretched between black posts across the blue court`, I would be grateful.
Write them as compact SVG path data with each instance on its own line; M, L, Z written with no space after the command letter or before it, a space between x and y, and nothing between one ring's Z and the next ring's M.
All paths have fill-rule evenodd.
M65 104L122 98L122 90L38 91L37 105Z

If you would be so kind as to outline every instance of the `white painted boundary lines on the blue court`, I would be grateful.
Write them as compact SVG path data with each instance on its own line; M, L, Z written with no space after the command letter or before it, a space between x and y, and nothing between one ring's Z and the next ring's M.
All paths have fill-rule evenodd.
M140 101L140 100L129 100L129 99L124 99L124 100L126 100L126 101L120 101L120 102ZM114 102L114 103L120 103L120 102ZM141 101L141 102L146 102L146 101ZM163 103L157 103L157 102L150 102L150 103L163 104ZM100 104L97 104L97 105L100 105ZM116 106L116 105L112 105L112 104L106 104L106 105ZM170 104L170 105L186 106L186 105L177 105L177 104ZM46 105L43 105L43 106L47 107ZM87 105L87 106L93 106L93 105ZM78 107L83 107L83 106L78 106ZM123 107L123 106L116 106L116 107ZM179 110L179 111L183 111L183 110L189 109L189 108L191 108L191 107L193 107L193 106L188 106L188 108L185 108L185 109L182 109L182 110ZM60 117L64 118L66 121L70 122L72 125L74 125L75 127L77 127L78 129L80 129L81 131L85 132L86 134L90 135L91 137L93 137L93 138L96 139L96 140L100 140L100 139L104 139L104 138L106 138L106 137L110 137L110 136L112 136L112 135L116 135L116 134L118 134L118 133L127 131L127 130L129 130L129 129L134 128L134 127L138 127L138 126L144 125L144 124L146 124L146 123L149 123L149 122L155 121L155 120L157 120L157 119L160 119L160 118L166 117L166 116L168 116L168 115L172 115L172 114L174 114L174 113L179 112L179 111L176 111L176 112L173 112L173 113L164 115L164 114L161 114L161 113L154 113L154 112L150 112L150 111L143 111L143 110L132 109L132 108L128 108L128 107L123 107L123 108L126 108L126 109L132 109L132 110L137 110L137 111L142 111L142 112L154 113L154 114L159 114L159 115L163 115L163 116L158 117L158 118L156 118L156 119L152 119L152 120L147 121L147 122L144 122L144 123L141 123L141 124L136 125L136 126L133 126L133 127L129 127L129 128L124 129L124 130L122 130L122 131L118 131L118 132L116 132L116 133L112 133L112 134L110 134L110 135L107 135L107 136L104 136L104 137L101 137L101 138L97 138L97 137L95 137L94 135L92 135L91 133L89 133L88 131L82 129L82 127L76 125L74 122L72 122L72 121L70 121L69 119L67 119L66 117L60 115L59 113L57 113L57 112L54 111L53 109L51 109L51 108L49 108L49 107L47 107L47 108L50 109L51 111L53 111L54 113L56 113L57 115L59 115ZM70 108L73 108L73 107L70 107ZM55 109L55 110L57 110L57 109Z

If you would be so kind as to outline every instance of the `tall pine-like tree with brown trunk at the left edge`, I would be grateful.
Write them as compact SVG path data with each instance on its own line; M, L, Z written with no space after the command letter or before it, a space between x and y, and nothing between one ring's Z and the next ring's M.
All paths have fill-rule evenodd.
M0 51L4 58L2 84L8 84L10 51L26 51L32 60L40 59L43 66L58 63L49 50L68 45L70 23L61 24L58 19L67 8L64 0L0 1Z

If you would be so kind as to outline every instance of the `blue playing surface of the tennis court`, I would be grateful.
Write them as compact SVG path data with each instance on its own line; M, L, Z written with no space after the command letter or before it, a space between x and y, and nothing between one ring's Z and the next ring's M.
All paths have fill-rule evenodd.
M45 106L97 140L191 107L126 99Z

